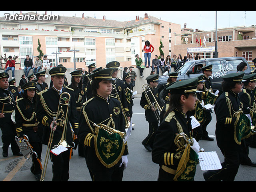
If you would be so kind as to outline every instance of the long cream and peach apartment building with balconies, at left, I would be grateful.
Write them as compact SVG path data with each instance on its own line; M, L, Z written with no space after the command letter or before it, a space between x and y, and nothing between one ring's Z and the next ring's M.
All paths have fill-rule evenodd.
M86 14L86 13L85 13ZM149 40L154 46L154 55L162 50L172 55L174 42L178 42L180 24L160 20L153 16L136 16L134 20L119 22L89 16L58 16L51 20L14 20L10 16L0 17L0 54L18 56L16 69L24 67L24 58L29 55L35 60L39 55L38 46L48 56L51 66L63 64L67 68L85 68L92 63L105 67L110 61L120 62L120 66L135 64L135 55L144 61L144 42ZM35 16L34 12L20 13ZM47 12L43 14L47 16ZM151 60L153 59L151 58Z

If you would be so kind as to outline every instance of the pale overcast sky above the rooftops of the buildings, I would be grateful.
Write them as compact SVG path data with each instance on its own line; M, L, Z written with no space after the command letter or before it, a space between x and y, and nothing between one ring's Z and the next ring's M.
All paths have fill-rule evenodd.
M22 11L22 13L31 11ZM36 11L33 11L36 12ZM44 11L37 11L38 14L43 14ZM4 13L15 14L20 11L0 11L0 16ZM184 28L186 23L187 28L201 29L204 31L215 29L216 11L47 11L47 14L55 14L60 16L84 16L96 17L106 20L129 21L135 20L136 16L144 17L145 13L148 16L154 16L161 20L180 24ZM217 28L233 27L233 26L252 26L256 25L256 11L217 11Z

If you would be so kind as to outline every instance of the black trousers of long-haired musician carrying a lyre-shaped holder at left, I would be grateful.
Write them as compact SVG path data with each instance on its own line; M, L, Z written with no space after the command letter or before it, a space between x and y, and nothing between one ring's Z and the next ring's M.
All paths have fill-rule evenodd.
M36 175L40 174L42 172L40 162L38 162L37 159L41 161L41 154L42 154L42 143L41 142L29 142L30 145L33 147L33 151L36 152L38 158L36 158L36 154L32 154L32 166L30 168L30 171Z

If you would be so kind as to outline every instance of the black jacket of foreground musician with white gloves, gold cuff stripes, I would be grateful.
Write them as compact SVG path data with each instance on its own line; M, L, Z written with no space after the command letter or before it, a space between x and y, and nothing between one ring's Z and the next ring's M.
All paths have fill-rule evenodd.
M176 151L178 147L174 143L176 135L180 132L178 131L176 120L172 117L173 115L182 126L183 132L187 136L190 136L190 132L192 131L191 118L186 117L186 114L178 112L178 110L170 112L160 123L156 132L152 160L160 166L165 165L176 170L182 153Z

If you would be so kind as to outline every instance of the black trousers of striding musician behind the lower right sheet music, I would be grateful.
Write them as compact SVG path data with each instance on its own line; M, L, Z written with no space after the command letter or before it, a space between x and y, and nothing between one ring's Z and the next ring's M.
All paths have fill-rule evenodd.
M220 170L210 170L204 173L206 181L234 181L242 159L242 149L232 150L220 148L224 162Z

